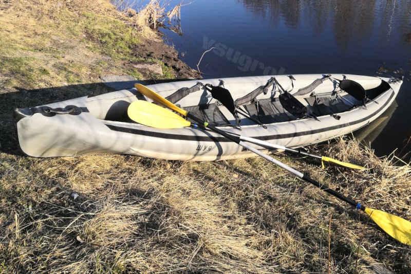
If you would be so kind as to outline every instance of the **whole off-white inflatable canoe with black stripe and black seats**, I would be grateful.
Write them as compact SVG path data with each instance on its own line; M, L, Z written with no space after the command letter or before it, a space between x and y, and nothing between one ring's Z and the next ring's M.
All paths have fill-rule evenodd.
M402 79L334 74L190 80L147 87L219 129L296 148L369 124L394 102L401 84ZM230 105L227 98L216 99L223 92L231 95ZM133 122L127 108L136 100L151 101L130 88L16 108L20 147L34 157L116 153L212 161L254 156L198 127L157 129Z

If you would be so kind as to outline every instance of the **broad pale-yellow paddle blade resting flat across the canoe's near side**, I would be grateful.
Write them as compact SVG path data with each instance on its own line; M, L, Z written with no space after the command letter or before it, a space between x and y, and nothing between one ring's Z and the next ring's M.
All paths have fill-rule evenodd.
M128 106L127 114L133 121L158 129L177 129L191 124L169 109L144 100L131 103Z

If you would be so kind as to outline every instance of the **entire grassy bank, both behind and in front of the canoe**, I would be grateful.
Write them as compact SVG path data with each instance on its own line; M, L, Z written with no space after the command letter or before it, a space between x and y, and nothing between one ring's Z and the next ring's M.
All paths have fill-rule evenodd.
M171 66L172 49L151 52L162 43L147 39L132 17L107 1L82 3L0 2L0 273L373 273L381 265L411 272L409 246L259 158L21 154L14 107L109 92L101 75L193 76L181 63L178 71ZM144 76L133 62L158 63L163 76ZM347 139L309 149L367 170L275 156L411 220L408 165Z

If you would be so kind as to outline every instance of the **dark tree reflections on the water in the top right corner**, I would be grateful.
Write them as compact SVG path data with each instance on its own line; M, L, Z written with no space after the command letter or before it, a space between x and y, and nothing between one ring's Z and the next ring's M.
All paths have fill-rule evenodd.
M272 23L283 21L295 29L300 24L312 27L318 35L332 27L338 45L347 49L352 41L369 40L379 33L378 42L389 42L394 28L403 33L404 41L411 41L410 0L239 0L258 17L269 17Z

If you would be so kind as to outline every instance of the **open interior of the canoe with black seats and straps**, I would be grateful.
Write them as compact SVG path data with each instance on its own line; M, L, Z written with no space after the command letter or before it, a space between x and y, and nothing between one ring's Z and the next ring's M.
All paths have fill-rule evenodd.
M331 88L329 92L324 88L319 90L317 87L327 80L334 83L334 89ZM290 81L293 83L291 78ZM192 87L181 87L166 99L173 104L178 104L186 96L202 90L203 93L201 95L198 93L198 98L192 95L193 99L189 99L189 103L184 99L185 105L181 107L214 126L262 125L265 127L265 124L303 118L317 119L316 117L324 115L339 119L339 113L361 107L390 88L384 80L381 80L376 87L364 89L356 81L338 80L330 75L323 75L322 78L314 79L311 84L293 92L283 89L275 77L270 77L265 85L255 88L236 100L232 99L229 90L223 87L223 83L213 86L201 82L197 82ZM258 95L267 94L270 90L271 95L267 95L268 98L257 99ZM232 92L235 95L237 90ZM211 93L215 101L200 100L200 97L204 97L204 93ZM129 104L135 100L145 100L145 98L136 89L120 90L116 93L89 97L86 106L90 114L98 119L135 123L127 115ZM245 118L240 120L237 115Z

